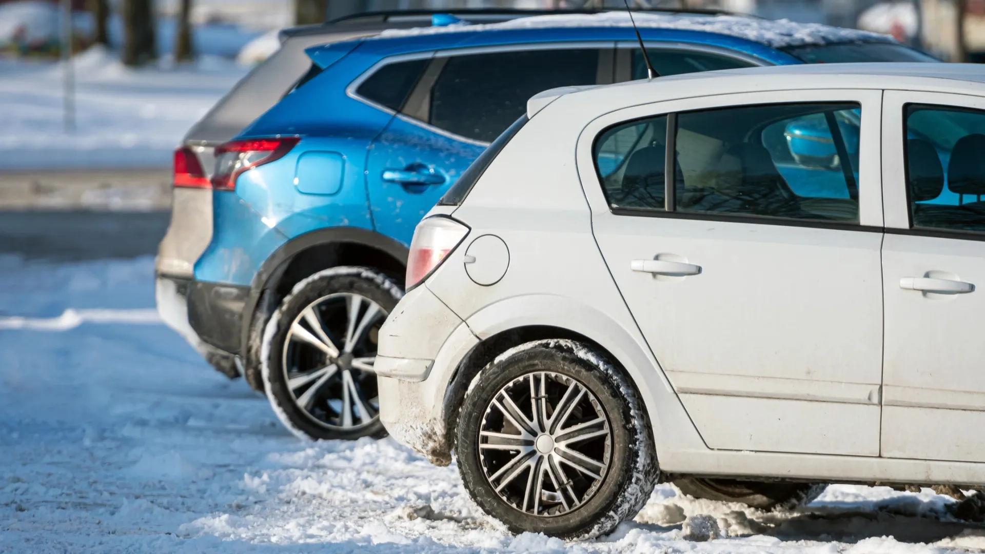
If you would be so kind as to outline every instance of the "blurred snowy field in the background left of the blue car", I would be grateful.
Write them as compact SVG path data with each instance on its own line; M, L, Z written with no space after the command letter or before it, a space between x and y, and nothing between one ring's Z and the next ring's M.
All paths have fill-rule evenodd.
M0 172L168 168L181 137L249 70L211 55L130 69L99 47L74 67L77 128L66 133L61 64L0 59Z

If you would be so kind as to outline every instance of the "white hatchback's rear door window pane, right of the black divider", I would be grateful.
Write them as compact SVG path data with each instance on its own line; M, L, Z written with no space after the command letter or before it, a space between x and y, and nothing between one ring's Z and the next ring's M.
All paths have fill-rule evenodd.
M858 221L858 104L769 104L678 116L678 210Z

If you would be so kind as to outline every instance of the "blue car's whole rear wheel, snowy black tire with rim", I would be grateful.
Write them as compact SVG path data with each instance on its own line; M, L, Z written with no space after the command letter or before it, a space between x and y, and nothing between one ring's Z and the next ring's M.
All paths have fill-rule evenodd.
M297 437L354 440L386 435L379 421L376 376L360 368L371 366L376 333L402 297L400 287L374 269L334 267L297 283L281 302L264 330L262 380L274 412ZM350 312L356 313L352 320ZM352 350L347 348L347 335L352 337ZM322 346L316 347L307 336ZM326 352L332 350L334 356Z

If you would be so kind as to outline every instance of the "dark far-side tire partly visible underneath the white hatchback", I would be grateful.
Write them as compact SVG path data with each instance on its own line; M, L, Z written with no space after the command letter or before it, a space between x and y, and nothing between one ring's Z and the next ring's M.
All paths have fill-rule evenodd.
M675 479L681 492L705 500L739 502L759 510L795 508L818 498L825 485L686 477Z

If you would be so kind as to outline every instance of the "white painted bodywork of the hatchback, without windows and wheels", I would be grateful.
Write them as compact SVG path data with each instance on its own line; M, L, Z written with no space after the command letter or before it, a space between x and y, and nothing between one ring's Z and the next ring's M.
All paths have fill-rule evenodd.
M447 390L472 348L549 325L624 367L665 471L985 484L983 293L900 288L939 275L930 272L985 284L985 242L905 233L900 119L910 102L985 108L980 66L755 68L561 93L539 95L557 98L532 103L536 113L451 212L471 228L464 244L484 235L507 244L505 275L475 283L456 248L395 312L424 289L439 305L419 302L381 330L381 353L396 353L411 348L398 342L425 340L421 322L434 312L463 321L443 342L427 336L429 353L414 347L433 360L423 381L377 362L381 419L398 441L445 461ZM606 127L804 101L862 104L857 230L609 209L592 159ZM660 280L632 269L658 254L700 272Z

